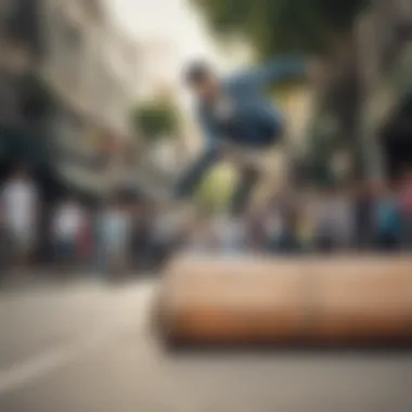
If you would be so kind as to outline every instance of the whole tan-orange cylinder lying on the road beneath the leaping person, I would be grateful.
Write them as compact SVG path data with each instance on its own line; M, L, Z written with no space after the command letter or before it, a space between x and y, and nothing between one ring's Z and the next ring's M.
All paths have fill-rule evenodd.
M411 339L412 258L180 258L157 313L173 343Z

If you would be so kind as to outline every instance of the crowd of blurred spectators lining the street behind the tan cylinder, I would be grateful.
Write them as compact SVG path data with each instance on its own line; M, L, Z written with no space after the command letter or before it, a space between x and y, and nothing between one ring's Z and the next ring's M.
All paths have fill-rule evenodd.
M130 191L93 205L68 195L44 213L35 181L20 169L3 183L0 206L2 272L33 267L42 250L51 267L138 273L165 253L159 205ZM197 215L181 241L201 253L412 252L412 173L356 190L280 192L244 216Z

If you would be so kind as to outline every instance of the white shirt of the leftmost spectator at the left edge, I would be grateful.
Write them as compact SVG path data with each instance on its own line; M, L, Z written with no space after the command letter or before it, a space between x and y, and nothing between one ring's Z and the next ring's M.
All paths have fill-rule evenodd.
M30 231L37 218L38 193L28 181L10 181L2 192L5 224L11 230Z

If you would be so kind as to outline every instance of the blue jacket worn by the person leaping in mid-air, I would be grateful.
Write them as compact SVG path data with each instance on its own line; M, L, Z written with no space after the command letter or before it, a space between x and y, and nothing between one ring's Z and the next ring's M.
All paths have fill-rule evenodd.
M269 64L248 73L222 80L226 96L233 105L228 120L219 120L214 104L199 103L197 111L207 149L221 142L265 147L281 138L284 121L280 108L266 95L267 89L288 77L305 75L304 60L276 57Z

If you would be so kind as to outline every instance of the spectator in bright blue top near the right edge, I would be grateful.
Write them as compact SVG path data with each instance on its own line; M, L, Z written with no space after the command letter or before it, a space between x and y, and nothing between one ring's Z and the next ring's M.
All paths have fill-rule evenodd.
M375 189L374 228L375 244L379 250L390 252L399 247L401 216L392 190L381 183Z

